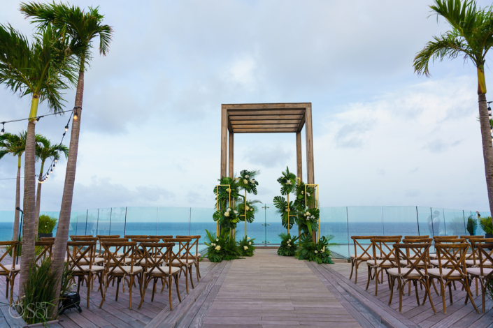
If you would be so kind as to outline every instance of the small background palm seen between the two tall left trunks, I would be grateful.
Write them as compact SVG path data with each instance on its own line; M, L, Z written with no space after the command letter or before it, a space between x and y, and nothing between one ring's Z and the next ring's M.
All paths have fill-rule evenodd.
M36 157L41 161L41 169L39 170L38 179L38 191L36 192L36 232L38 231L39 223L39 209L41 206L41 185L43 184L43 169L45 167L45 161L50 158L52 161L58 161L60 159L59 152L65 154L65 158L69 156L69 148L63 144L51 144L50 140L40 135L36 138ZM53 163L52 169L55 168Z

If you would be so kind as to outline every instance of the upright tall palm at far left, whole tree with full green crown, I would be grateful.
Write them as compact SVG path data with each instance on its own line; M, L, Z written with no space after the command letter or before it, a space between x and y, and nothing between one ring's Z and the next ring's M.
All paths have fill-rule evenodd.
M73 66L67 56L64 38L50 26L36 33L29 43L26 36L10 25L0 24L0 84L18 96L31 96L24 158L24 223L22 226L22 258L20 262L19 297L24 296L24 283L35 259L34 214L36 210L36 141L35 124L38 104L48 100L53 112L62 111L62 94L67 82L74 82Z

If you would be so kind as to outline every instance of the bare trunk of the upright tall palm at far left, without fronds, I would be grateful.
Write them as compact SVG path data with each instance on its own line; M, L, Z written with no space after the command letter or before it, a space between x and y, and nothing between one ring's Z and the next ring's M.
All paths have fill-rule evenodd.
M36 117L38 95L34 95L29 117ZM22 257L20 258L19 299L24 296L24 283L29 279L29 268L34 264L34 214L36 211L36 130L34 121L27 124L26 151L24 152L24 221L22 222Z

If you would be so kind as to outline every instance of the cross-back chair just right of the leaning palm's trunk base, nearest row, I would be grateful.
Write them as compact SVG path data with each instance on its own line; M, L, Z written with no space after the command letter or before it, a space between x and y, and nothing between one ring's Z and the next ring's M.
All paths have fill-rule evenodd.
M81 283L87 284L87 308L89 308L93 278L99 278L100 285L103 283L104 267L93 264L95 250L96 241L69 241L66 244L68 269L74 279L78 278L77 292L80 291ZM103 288L101 288L101 297L103 297Z

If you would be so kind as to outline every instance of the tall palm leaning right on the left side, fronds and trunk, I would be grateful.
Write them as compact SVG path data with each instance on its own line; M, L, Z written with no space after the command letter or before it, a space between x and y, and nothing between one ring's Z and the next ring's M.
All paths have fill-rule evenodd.
M57 272L57 290L59 295L60 277L62 276L66 243L69 239L69 224L73 198L73 185L76 181L76 163L80 131L80 119L83 109L84 71L91 59L92 42L99 36L99 54L109 51L111 33L113 29L103 24L104 16L99 13L98 7L89 7L85 12L76 6L64 3L21 3L20 11L27 17L33 17L33 22L43 29L50 24L69 36L71 50L78 56L79 78L77 83L76 101L74 107L78 109L78 119L72 121L70 137L70 156L67 161L65 186L62 197L62 207L58 220L57 235L55 237L55 253L53 255L53 270Z

